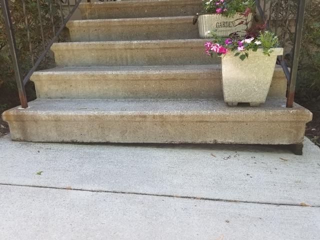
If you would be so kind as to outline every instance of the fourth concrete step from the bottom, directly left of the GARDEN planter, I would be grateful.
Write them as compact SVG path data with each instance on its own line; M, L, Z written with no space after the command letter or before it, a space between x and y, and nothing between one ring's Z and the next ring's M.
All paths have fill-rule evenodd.
M71 41L116 41L199 38L192 16L69 21Z

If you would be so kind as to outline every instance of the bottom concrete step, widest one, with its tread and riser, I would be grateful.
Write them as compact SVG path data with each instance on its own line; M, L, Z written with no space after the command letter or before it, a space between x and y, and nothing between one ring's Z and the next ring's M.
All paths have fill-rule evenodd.
M285 98L260 107L222 99L48 100L3 113L13 140L299 144L312 114Z

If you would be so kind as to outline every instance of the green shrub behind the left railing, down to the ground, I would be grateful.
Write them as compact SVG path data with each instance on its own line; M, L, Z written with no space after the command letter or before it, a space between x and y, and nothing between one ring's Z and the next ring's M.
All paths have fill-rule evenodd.
M19 55L22 74L25 75L32 67L31 55L33 55L33 62L43 52L43 42L40 30L40 21L36 0L24 0L27 23L29 27L29 36L25 25L25 15L23 12L22 0L9 0L9 9L11 13L11 20L16 37L16 45ZM40 14L43 27L43 37L45 45L50 41L55 33L53 33L53 25L55 32L61 25L61 14L59 0L52 0L51 10L49 0L39 0ZM53 18L53 25L51 22ZM62 40L61 36L59 40ZM31 49L30 51L30 44ZM45 59L40 63L38 69L48 68L53 66L53 59L47 54ZM35 98L35 91L32 82L26 85L26 93L28 100ZM9 46L7 36L0 9L0 113L12 106L19 104L18 92L14 78L14 71L12 60L9 53Z

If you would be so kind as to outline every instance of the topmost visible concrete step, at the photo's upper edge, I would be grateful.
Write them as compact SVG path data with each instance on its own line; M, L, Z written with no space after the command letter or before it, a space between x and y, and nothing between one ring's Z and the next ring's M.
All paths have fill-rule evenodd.
M122 0L80 3L82 19L188 16L202 10L202 0Z

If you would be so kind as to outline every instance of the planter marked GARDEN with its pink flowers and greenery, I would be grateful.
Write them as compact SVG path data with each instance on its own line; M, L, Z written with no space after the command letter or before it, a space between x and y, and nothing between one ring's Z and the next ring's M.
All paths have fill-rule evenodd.
M205 13L198 14L197 19L202 38L209 37L212 30L217 36L228 36L232 32L244 35L255 9L254 0L203 0L203 5Z

